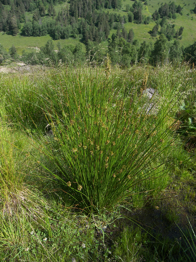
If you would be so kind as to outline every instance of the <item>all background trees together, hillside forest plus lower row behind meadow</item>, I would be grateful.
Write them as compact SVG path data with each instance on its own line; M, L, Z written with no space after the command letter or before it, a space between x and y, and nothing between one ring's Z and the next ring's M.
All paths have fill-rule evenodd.
M185 60L195 63L196 42L190 46L180 46L179 39L183 37L184 27L175 28L175 24L169 23L169 19L175 19L176 14L182 14L183 7L175 5L175 2L161 3L152 16L142 14L148 0L130 1L124 15L105 10L119 9L122 6L121 0L70 0L69 5L56 13L55 5L63 2L66 1L0 0L0 31L27 37L49 34L53 40L80 37L80 41L86 46L86 52L82 50L80 43L76 46L59 44L58 50L55 50L53 42L48 41L38 53L23 51L19 57L14 46L9 53L1 46L0 63L8 58L20 59L28 64L48 64L48 61L56 64L60 60L84 63L86 58L101 62L107 53L113 64L125 66L136 61L157 64ZM33 13L32 19L27 19L28 12ZM196 6L192 12L196 13ZM155 43L139 43L134 38L133 29L127 32L124 27L128 22L149 24L152 20L156 25L149 34L157 37ZM109 37L112 29L116 29L116 32ZM108 49L104 51L100 48L103 41L108 43Z

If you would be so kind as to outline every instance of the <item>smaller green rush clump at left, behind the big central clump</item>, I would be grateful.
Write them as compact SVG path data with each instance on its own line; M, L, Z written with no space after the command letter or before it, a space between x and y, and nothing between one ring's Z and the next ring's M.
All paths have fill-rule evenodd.
M42 127L46 123L41 104L39 104L38 83L34 83L30 76L21 77L19 74L14 79L7 77L1 79L0 84L7 120L14 127L29 129L31 132L36 126Z

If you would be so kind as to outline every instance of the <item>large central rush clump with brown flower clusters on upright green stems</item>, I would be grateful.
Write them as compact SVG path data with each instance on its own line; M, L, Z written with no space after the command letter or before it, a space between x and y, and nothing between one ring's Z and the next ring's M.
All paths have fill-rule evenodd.
M42 87L54 135L42 149L54 170L45 168L88 211L112 210L130 188L164 174L159 167L167 162L163 153L174 132L175 95L153 100L159 105L154 115L147 110L152 100L127 77L106 77L102 68L62 70L52 76L53 87Z

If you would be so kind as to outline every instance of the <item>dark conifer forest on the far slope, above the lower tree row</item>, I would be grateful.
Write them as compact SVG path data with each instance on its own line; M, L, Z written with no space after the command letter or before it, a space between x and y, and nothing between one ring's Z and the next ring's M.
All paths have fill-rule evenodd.
M156 36L160 24L161 33L171 40L176 31L166 20L175 18L175 14L182 11L182 7L176 6L174 2L162 3L152 18L146 17L142 15L142 8L148 4L147 1L135 0L132 5L127 4L126 13L120 15L105 12L104 8L118 9L122 6L121 0L70 0L69 8L67 5L56 14L55 4L56 0L0 0L0 31L10 31L16 35L21 23L24 23L21 28L24 36L50 34L54 40L82 36L84 43L87 43L88 40L99 42L100 39L108 39L111 29L120 30L127 22L148 24L154 20L157 25L151 35ZM9 5L10 9L5 8L5 5ZM33 12L32 19L27 19L25 12Z

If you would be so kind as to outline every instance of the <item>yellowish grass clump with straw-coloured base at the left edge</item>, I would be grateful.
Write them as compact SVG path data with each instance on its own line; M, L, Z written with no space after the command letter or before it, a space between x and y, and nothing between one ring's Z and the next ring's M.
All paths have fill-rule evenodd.
M0 212L4 216L14 216L26 209L29 214L36 217L46 201L40 200L36 196L36 190L32 192L24 182L29 172L29 163L25 157L28 151L25 143L23 149L16 147L16 144L22 144L21 141L20 143L17 141L22 138L17 139L13 134L16 130L13 129L6 115L3 97L1 97L0 106Z

